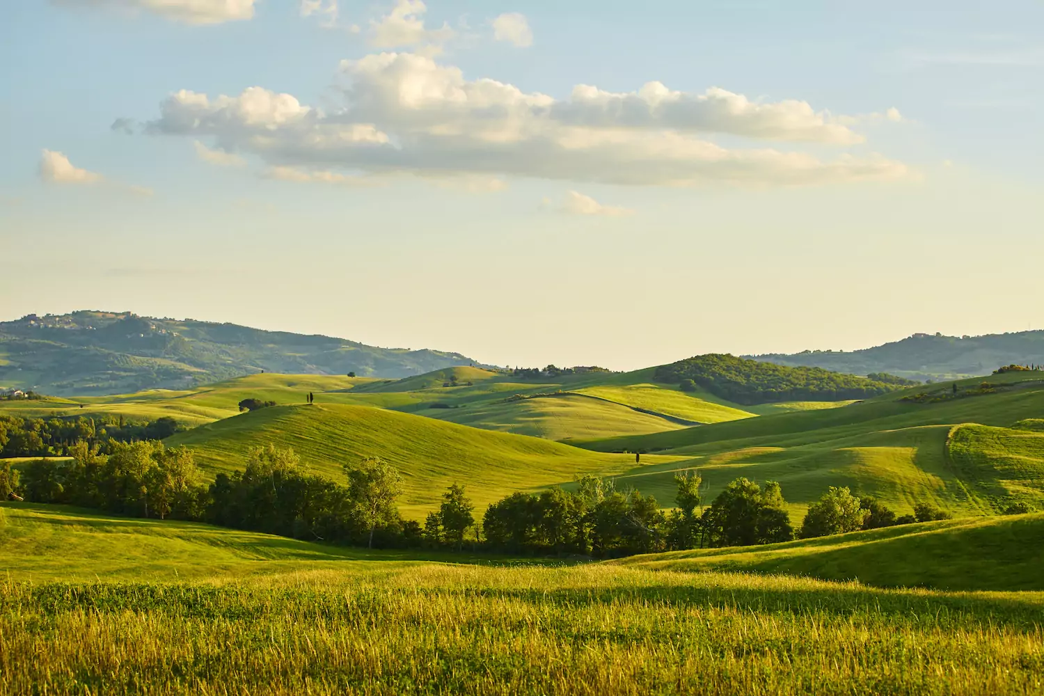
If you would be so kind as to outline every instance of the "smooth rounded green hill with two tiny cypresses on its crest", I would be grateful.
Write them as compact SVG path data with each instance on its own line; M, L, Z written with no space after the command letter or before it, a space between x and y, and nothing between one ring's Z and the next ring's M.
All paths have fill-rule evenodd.
M615 474L634 464L549 440L469 428L362 406L276 406L179 433L169 446L196 452L210 472L242 469L252 447L291 447L316 473L342 480L341 467L366 456L396 464L405 478L403 513L423 517L451 483L467 486L479 508L515 490L567 483L585 473ZM671 460L672 458L667 458Z

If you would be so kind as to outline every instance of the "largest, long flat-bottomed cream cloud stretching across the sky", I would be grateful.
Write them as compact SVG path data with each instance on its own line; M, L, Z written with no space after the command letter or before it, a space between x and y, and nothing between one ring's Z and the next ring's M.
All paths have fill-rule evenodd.
M673 92L659 82L631 93L579 86L559 100L494 79L468 80L458 68L417 53L371 54L342 62L341 70L350 85L343 104L330 113L261 87L215 97L182 90L162 102L145 130L211 138L227 152L305 172L646 186L805 185L909 173L876 154L823 160L800 150L723 147L703 137L862 140L804 101L753 101L716 88Z

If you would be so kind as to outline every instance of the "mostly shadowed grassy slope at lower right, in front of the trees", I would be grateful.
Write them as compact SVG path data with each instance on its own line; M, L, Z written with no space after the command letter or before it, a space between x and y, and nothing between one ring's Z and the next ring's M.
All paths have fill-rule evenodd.
M764 547L610 561L667 571L804 575L883 587L1044 591L1044 514L902 525Z

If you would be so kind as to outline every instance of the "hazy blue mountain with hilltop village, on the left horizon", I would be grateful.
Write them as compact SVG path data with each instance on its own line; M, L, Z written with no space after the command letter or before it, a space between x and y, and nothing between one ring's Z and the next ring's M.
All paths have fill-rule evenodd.
M459 353L130 312L0 322L0 387L55 395L180 389L260 371L401 378L472 364L479 363Z

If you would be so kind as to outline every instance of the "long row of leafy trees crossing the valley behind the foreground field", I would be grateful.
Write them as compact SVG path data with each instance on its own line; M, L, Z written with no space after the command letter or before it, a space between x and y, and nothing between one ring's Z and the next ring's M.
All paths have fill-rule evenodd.
M651 496L617 490L613 480L588 475L569 490L505 496L480 521L465 487L454 483L422 525L400 515L396 502L402 475L378 457L346 464L342 484L310 472L290 449L255 448L243 470L218 473L207 485L184 447L114 441L102 454L97 445L80 441L70 454L69 460L30 462L21 476L9 462L0 465L0 496L15 493L33 502L370 548L467 547L602 558L774 544L949 517L928 503L900 517L876 499L831 486L796 528L779 483L737 478L705 507L703 480L687 471L674 476L677 507L671 510L661 509ZM1026 511L1025 505L1006 510Z

